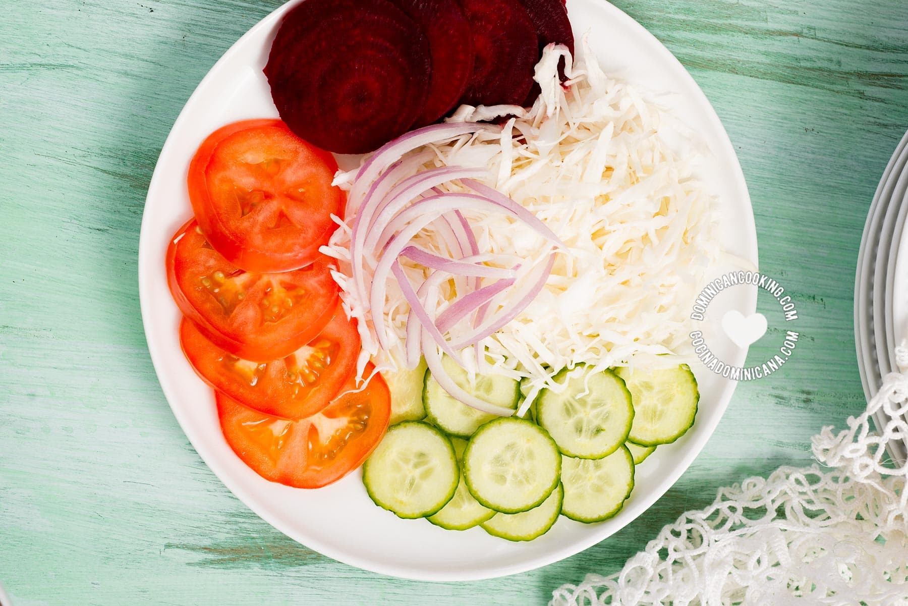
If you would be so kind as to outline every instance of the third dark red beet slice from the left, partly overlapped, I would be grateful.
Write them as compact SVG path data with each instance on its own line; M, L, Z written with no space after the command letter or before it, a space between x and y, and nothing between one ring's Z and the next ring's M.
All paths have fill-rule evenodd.
M519 0L460 0L473 32L473 73L460 103L522 104L539 58L536 28Z

